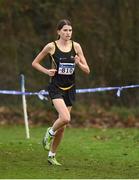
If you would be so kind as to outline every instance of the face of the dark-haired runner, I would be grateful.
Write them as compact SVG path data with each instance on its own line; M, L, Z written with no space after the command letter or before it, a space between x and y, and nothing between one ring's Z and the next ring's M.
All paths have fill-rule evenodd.
M58 35L65 41L70 40L72 36L72 27L69 25L64 25L62 29L58 30Z

